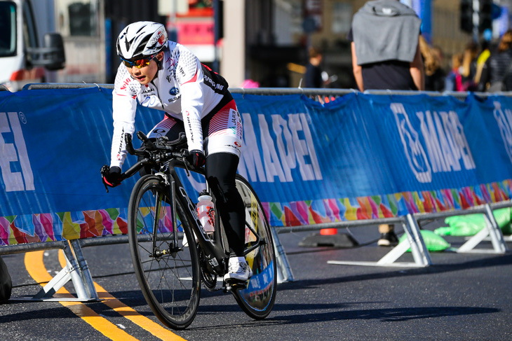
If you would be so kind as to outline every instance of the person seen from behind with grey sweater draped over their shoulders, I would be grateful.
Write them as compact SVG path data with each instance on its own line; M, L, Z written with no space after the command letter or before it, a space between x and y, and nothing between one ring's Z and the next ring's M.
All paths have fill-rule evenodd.
M368 1L353 15L353 76L359 90L424 90L419 50L422 20L398 0ZM379 246L398 244L393 225L379 225Z

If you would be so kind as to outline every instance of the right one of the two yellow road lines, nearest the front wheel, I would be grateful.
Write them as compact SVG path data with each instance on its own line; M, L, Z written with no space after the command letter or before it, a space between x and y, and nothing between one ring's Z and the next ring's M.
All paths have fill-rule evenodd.
M59 262L62 267L66 266L66 258L64 257L64 252L62 251L59 252ZM159 339L171 341L185 340L170 330L163 328L159 323L155 323L154 321L151 321L151 319L148 319L146 316L142 316L136 312L135 309L128 307L128 305L125 305L123 302L108 293L104 288L102 288L102 286L100 286L100 284L94 282L94 287L96 288L97 295L104 300L102 303L116 311L121 316L132 321L137 326L140 326L144 330L149 331L149 333L159 337Z

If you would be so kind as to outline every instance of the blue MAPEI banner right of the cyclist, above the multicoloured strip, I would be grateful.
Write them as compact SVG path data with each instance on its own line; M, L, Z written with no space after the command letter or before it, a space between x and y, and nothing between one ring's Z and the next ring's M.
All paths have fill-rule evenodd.
M236 97L246 146L239 171L263 201L288 202L502 181L511 165L491 101L350 94L321 105L298 95Z

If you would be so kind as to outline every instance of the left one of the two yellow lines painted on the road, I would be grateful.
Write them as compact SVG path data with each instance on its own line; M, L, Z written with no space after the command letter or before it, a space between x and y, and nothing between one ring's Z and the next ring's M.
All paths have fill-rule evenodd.
M34 281L41 283L41 286L48 283L52 279L43 263L44 251L34 251L25 253L25 267ZM60 288L57 293L60 297L73 297L64 287ZM82 302L60 302L61 305L69 308L76 316L81 317L90 326L100 331L106 337L114 341L137 340L132 335L118 328L114 323L109 322L104 317L97 314Z

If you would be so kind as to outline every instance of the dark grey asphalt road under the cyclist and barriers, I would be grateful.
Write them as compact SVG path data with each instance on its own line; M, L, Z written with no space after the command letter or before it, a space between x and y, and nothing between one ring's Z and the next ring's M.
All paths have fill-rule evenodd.
M389 251L375 244L377 228L350 231L361 244L370 244L305 249L298 244L312 232L279 235L295 281L278 285L274 311L262 321L246 316L230 294L203 290L187 330L163 328L142 298L128 245L121 244L83 249L101 302L11 300L0 305L0 335L11 341L512 340L512 253L431 253L434 265L422 268L328 264L376 261ZM446 239L454 247L464 243L461 237ZM492 249L490 242L478 247ZM3 258L13 297L41 288L27 268L36 265L52 276L62 268L56 250ZM410 262L412 256L398 261ZM65 288L74 293L72 284Z

